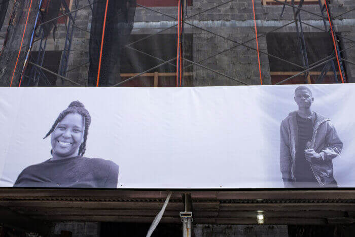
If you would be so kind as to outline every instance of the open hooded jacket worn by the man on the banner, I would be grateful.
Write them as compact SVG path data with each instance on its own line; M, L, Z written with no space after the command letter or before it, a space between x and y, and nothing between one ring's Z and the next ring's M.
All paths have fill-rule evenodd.
M293 111L281 122L280 127L280 170L283 179L296 181L294 176L296 164L296 148L298 146L297 111ZM308 149L321 154L322 160L310 162L309 165L320 186L334 181L333 162L341 153L343 143L330 122L330 119L314 112L313 134Z

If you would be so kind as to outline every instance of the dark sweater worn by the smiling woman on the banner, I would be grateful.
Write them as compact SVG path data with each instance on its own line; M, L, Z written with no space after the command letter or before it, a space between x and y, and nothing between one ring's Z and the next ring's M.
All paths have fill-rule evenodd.
M110 160L76 156L30 165L14 187L117 188L118 165Z

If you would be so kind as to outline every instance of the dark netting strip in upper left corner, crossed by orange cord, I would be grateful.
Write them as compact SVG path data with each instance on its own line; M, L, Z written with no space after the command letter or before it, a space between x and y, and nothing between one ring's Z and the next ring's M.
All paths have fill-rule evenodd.
M31 0L15 2L4 48L0 56L0 86L10 86L11 81L12 86L19 84L40 1L32 1L31 8L30 3ZM28 14L29 8L30 11ZM27 15L28 21L26 24ZM24 37L21 47L23 33ZM16 70L14 70L15 67Z

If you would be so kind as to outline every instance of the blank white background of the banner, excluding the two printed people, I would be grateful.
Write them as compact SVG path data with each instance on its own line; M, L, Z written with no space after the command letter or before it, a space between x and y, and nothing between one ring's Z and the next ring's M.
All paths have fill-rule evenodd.
M84 156L119 165L118 188L284 187L280 123L297 86L0 88L0 186L52 157L43 138L79 100L92 120ZM355 85L307 87L343 143L334 178L355 187Z

